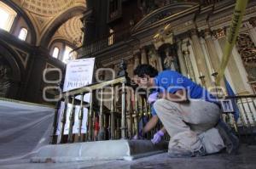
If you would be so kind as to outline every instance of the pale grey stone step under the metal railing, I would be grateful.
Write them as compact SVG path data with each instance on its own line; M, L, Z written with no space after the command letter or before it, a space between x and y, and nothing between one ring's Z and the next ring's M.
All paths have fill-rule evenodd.
M71 162L90 160L125 160L165 152L167 142L150 140L108 140L75 144L46 145L32 155L32 162Z

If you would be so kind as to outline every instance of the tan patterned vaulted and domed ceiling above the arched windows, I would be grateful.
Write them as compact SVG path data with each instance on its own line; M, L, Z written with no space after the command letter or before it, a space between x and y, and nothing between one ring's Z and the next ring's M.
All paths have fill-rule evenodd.
M37 32L38 45L45 36L49 36L49 29L53 29L53 25L56 24L57 27L53 29L55 32L51 32L51 36L55 34L69 42L75 42L75 45L80 45L78 41L82 34L82 23L79 18L83 10L79 13L74 13L73 10L78 8L85 10L85 0L13 0L13 2L32 20ZM53 38L56 38L55 36Z

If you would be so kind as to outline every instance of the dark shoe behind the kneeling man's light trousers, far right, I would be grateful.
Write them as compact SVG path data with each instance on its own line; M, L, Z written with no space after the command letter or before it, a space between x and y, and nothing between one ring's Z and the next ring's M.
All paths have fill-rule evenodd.
M239 149L239 138L236 137L232 129L222 120L218 121L216 128L224 141L226 152L231 155L236 155Z

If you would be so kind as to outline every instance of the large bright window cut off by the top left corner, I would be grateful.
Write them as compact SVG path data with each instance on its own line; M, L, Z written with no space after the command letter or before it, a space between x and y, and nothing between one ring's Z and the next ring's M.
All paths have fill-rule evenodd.
M17 13L5 3L0 2L0 28L10 31Z

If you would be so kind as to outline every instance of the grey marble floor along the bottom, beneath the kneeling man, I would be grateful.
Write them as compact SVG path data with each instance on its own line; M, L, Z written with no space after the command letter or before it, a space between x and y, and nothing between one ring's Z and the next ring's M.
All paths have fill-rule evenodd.
M256 146L242 145L238 155L207 155L193 158L169 158L166 153L152 155L134 161L84 161L73 163L29 163L28 160L0 163L1 169L255 169Z

